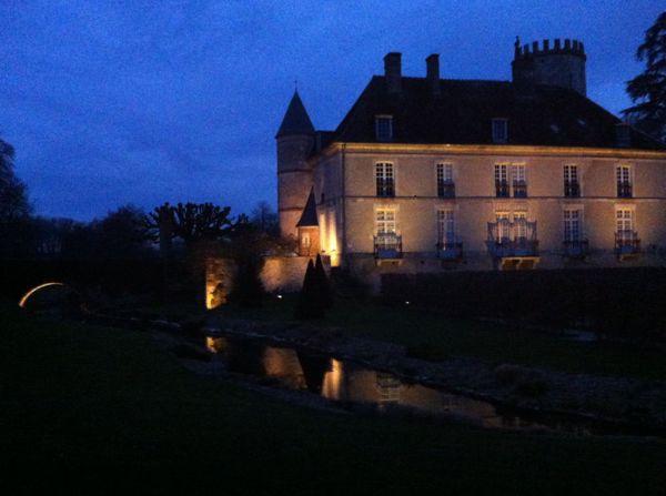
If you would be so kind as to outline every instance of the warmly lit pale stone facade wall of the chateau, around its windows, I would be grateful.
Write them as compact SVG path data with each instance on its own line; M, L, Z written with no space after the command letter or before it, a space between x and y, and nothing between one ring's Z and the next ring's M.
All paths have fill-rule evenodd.
M344 153L344 159L342 154ZM344 162L344 174L339 169ZM394 198L377 198L374 164L392 162ZM455 199L437 196L436 163L452 163ZM521 164L526 170L527 198L497 198L494 165ZM564 196L565 164L578 168L579 198ZM633 198L617 198L616 168L632 171ZM326 169L330 169L326 170ZM332 172L331 172L332 171ZM344 189L342 188L344 176ZM331 184L326 182L327 178ZM322 216L336 215L334 227L322 224L322 250L330 250L334 229L339 255L353 272L371 281L384 272L442 270L494 270L487 249L488 222L498 211L527 213L537 223L537 267L666 265L666 153L634 150L595 150L545 146L357 145L341 148L322 160L314 171L315 193L325 192L317 205ZM511 180L509 180L511 181ZM344 192L344 206L340 198ZM333 196L331 196L333 195ZM319 198L319 196L317 196ZM377 266L373 256L375 211L396 210L403 260ZM635 212L634 229L642 253L630 260L615 254L616 209ZM464 261L443 264L436 256L437 211L455 214L456 241L463 243ZM584 261L564 256L564 210L583 212L582 239L589 243ZM344 216L343 216L344 215ZM344 247L342 232L344 231Z

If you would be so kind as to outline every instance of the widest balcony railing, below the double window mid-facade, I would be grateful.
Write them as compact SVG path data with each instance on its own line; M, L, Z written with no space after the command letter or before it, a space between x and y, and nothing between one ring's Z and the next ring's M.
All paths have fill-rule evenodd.
M487 246L495 259L538 256L536 221L488 222Z

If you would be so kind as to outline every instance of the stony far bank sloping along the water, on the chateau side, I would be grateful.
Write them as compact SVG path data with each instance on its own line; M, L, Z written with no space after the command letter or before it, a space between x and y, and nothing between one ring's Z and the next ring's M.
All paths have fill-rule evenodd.
M275 345L329 354L500 406L666 433L666 383L568 374L463 357L430 362L408 356L402 345L351 336L342 328L314 323L284 325L215 317L203 333L261 338Z

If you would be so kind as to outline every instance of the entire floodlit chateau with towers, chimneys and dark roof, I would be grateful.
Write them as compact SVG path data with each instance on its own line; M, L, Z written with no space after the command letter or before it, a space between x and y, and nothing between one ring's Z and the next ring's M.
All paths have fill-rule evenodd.
M583 43L515 44L512 81L404 77L384 58L335 131L294 93L280 227L382 272L666 265L666 144L586 98Z

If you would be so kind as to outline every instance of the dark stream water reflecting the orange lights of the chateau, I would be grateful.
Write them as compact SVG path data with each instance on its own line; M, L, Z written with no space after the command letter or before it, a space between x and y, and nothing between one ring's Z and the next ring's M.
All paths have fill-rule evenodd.
M224 361L230 372L269 377L284 387L310 391L327 399L374 404L380 409L400 405L466 418L488 427L515 424L490 403L407 384L393 374L335 358L229 337L206 337L206 346Z

